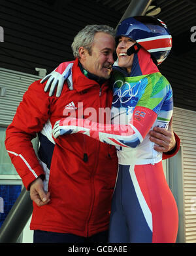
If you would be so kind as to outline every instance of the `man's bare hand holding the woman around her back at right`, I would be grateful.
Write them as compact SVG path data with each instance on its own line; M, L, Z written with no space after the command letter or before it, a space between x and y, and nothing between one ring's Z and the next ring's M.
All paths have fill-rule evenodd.
M172 119L169 122L168 131L165 128L154 127L150 131L150 140L155 142L154 149L158 152L171 151L176 145L176 139L172 130Z

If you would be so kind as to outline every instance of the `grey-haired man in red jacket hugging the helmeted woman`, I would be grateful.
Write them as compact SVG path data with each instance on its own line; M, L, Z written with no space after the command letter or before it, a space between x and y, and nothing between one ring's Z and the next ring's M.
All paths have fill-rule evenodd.
M114 30L86 26L75 37L73 49L76 60L67 62L72 65L73 90L66 81L59 98L49 96L44 93L45 84L35 81L7 128L8 154L33 200L30 228L35 230L34 242L107 242L118 167L116 148L82 134L56 140L52 128L70 114L88 118L90 109L95 110L99 122L99 110L110 108L108 78L114 62ZM152 140L158 142L159 150L174 148L173 133L158 129ZM38 156L31 144L37 133ZM177 136L176 141L170 156L178 151Z

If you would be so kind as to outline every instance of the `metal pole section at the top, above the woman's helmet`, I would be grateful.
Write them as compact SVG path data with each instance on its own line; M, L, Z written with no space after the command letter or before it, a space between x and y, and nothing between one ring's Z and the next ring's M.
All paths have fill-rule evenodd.
M122 22L122 20L124 20L125 18L131 17L131 16L145 15L151 3L152 3L152 0L131 0L131 3L129 3L127 10L125 11L122 18L120 19L120 22ZM120 24L120 22L118 24Z

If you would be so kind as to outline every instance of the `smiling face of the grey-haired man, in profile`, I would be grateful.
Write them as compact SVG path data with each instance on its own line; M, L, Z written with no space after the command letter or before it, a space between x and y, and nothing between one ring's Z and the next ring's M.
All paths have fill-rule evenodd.
M80 61L88 72L108 79L114 63L114 50L114 37L105 32L97 32L91 47L91 54L86 50L85 58L81 58Z

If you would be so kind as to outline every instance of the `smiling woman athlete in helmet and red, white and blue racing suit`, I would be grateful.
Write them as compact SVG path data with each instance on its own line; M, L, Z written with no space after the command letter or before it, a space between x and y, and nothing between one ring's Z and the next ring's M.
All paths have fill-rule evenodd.
M167 129L172 117L171 85L156 66L171 50L171 35L160 20L136 16L121 22L116 42L112 122L64 118L53 135L83 133L118 149L109 242L175 242L176 202L148 135L155 126Z

